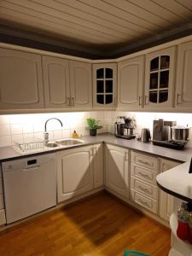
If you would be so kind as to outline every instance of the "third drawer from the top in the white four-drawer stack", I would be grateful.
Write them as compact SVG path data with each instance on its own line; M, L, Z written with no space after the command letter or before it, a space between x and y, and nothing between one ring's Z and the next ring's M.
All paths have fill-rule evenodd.
M158 198L158 190L156 186L145 183L143 180L137 179L136 177L131 177L131 189L135 189L138 192L153 198L154 200L157 200Z

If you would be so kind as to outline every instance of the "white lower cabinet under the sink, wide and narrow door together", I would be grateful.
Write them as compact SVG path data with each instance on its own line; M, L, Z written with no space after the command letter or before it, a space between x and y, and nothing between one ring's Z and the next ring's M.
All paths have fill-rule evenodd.
M102 144L60 151L57 162L57 201L103 185Z

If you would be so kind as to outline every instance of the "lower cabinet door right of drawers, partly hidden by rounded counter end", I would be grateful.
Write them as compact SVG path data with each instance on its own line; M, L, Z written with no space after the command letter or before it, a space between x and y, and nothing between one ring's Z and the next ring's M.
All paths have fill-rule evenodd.
M173 167L178 165L179 163L177 162L160 159L160 172L166 172L167 170L172 169ZM169 218L173 211L174 197L160 190L160 217L169 221Z

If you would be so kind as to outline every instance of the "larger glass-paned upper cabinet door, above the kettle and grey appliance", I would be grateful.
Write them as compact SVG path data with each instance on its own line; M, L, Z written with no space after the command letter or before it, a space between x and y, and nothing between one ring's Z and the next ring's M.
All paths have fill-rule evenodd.
M174 69L175 47L146 55L145 108L171 108L173 106Z

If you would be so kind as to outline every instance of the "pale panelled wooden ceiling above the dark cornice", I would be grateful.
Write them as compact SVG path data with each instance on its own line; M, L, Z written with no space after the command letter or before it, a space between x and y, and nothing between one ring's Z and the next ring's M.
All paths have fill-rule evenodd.
M2 34L12 27L15 37L32 39L33 33L34 40L38 35L90 55L114 56L190 33L192 1L0 0L0 19Z

